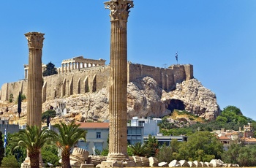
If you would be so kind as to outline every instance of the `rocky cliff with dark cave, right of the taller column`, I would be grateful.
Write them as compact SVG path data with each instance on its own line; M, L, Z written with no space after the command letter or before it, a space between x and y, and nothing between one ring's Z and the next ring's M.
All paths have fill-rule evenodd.
M143 77L128 85L128 115L162 117L174 109L187 110L208 120L219 115L216 95L198 80L176 84L174 91L165 92L151 77Z

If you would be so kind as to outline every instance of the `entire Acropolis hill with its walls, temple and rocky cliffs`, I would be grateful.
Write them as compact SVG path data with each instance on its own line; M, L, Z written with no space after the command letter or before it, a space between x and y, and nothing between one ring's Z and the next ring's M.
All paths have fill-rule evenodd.
M26 77L29 67L24 67ZM79 56L62 61L61 67L57 70L58 75L43 77L42 102L45 102L42 105L43 111L53 102L62 101L66 102L70 113L83 113L80 115L86 115L86 118L94 118L93 115L97 115L97 118L102 120L108 119L110 66L105 65L105 60L92 60ZM191 64L176 64L165 69L128 62L127 72L129 118L134 115L161 117L170 114L174 108L188 110L210 119L219 114L215 94L194 79ZM0 100L7 101L11 94L16 98L19 91L26 95L26 79L4 83L1 86ZM101 98L102 96L104 98ZM79 97L81 99L78 100ZM88 97L90 99L87 99ZM94 103L92 103L93 99ZM102 103L102 99L107 100ZM95 107L84 107L84 104ZM97 107L99 104L101 107ZM26 113L26 108L23 109ZM15 110L17 111L17 108L13 107L13 112Z

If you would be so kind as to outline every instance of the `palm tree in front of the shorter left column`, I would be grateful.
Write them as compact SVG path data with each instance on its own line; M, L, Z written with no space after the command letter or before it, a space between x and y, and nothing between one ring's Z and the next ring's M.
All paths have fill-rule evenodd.
M28 150L31 168L39 167L40 148L45 142L51 140L50 131L48 129L40 130L38 126L26 126L26 129L20 130L17 137L13 137L13 148L23 147Z

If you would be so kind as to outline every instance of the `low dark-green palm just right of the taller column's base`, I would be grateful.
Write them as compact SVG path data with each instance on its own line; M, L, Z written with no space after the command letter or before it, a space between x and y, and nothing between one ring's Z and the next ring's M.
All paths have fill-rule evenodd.
M145 143L136 142L135 145L129 145L131 148L132 156L148 156L151 153L150 148Z

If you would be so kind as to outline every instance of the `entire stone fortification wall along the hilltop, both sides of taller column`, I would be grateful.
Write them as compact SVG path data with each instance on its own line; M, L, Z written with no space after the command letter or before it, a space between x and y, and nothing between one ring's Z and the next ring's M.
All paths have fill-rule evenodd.
M173 91L176 83L193 78L193 66L190 64L172 65L167 69L142 64L128 64L127 68L128 82L135 81L138 77L149 76L154 78L165 91ZM77 69L67 74L43 77L42 102L107 88L109 76L110 66L94 66ZM4 83L1 86L0 99L7 101L10 99L10 94L13 94L13 100L16 101L19 91L26 95L27 80Z

